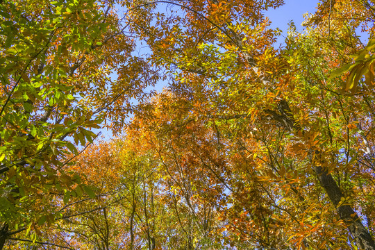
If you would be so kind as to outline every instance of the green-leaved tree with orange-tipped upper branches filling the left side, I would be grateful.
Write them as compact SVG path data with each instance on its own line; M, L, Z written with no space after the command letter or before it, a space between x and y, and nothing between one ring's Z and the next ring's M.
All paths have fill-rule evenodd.
M144 97L157 76L133 56L111 1L6 0L0 12L2 248L12 235L58 219L51 201L72 185L90 190L65 172L67 150L91 143L103 119L117 120L110 126L118 130L131 98Z

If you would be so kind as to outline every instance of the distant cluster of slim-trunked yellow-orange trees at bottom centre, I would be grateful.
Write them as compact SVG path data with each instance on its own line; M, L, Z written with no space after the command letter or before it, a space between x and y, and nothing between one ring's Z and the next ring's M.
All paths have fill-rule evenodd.
M165 178L164 166L144 146L138 144L136 136L129 136L88 147L71 170L84 176L83 182L97 187L96 197L56 202L63 218L38 226L38 243L34 245L53 242L68 249L192 249L194 245L221 249L208 237L213 237L208 228L219 226L213 206L199 205L194 199L188 204L176 192L178 188L169 190L166 183L171 182ZM8 247L17 245L11 240Z

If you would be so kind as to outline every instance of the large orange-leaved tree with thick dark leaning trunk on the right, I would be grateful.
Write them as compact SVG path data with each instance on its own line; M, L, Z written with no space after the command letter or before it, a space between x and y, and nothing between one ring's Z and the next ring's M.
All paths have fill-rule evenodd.
M374 110L373 42L362 51L363 44L356 35L356 27L362 26L370 38L373 36L372 3L324 1L318 12L308 17L306 34L291 33L287 47L280 51L272 49L273 32L267 29L267 19L257 15L272 2L262 1L265 6L251 3L251 10L243 6L238 9L244 11L235 15L238 9L233 6L241 3L189 1L181 6L185 17L168 19L156 15L158 19L164 18L163 22L156 22L160 25L144 21L136 26L145 36L147 34L145 39L155 48L155 63L176 74L170 88L173 94L186 100L184 106L178 101L172 106L172 113L185 109L185 119L181 121L181 117L169 113L174 119L164 126L172 130L171 124L172 127L185 126L183 124L188 122L206 121L207 126L218 127L217 136L222 140L229 138L240 144L240 148L224 147L223 153L231 156L228 152L244 151L247 152L244 155L253 158L242 162L242 167L249 166L245 170L262 182L244 180L242 185L256 183L254 190L263 191L257 192L258 197L248 204L264 199L263 204L268 205L264 225L275 216L280 216L281 222L288 216L292 222L286 230L291 233L288 239L296 247L335 249L347 246L352 237L358 248L374 249L369 233L372 224L362 223L360 217L366 209L358 204L369 206L360 197L367 197L364 190L372 186L374 175L371 160L374 149L369 142L372 141ZM149 20L152 15L142 17ZM198 18L201 22L192 22ZM191 36L192 33L195 35ZM359 55L356 64L339 70L342 73L344 69L351 69L349 80L345 76L333 78L338 73L336 69L351 62L350 54ZM361 80L363 75L365 81ZM149 119L164 117L149 113L142 116L147 120L142 122L143 126L151 124ZM223 120L231 127L225 128ZM156 123L160 124L160 120ZM153 126L149 131L155 129ZM167 138L174 138L173 143L176 143L175 137L181 135L181 131L175 131L176 135L169 135L169 131L167 135ZM204 138L209 138L208 135ZM167 142L163 135L157 137L160 144ZM189 145L194 145L194 149L190 150L197 154L203 142L197 134L193 138L195 144L190 142ZM211 149L212 144L204 145ZM174 150L182 152L190 147L176 148ZM202 161L212 161L210 158L212 156L205 156ZM235 167L237 174L230 181L240 179L242 167ZM222 181L221 178L217 176L218 181ZM263 183L265 180L268 180L267 185ZM281 192L276 192L275 182L281 180ZM367 188L364 189L364 185ZM287 197L290 190L294 192L294 199ZM372 199L367 201L372 203ZM331 208L326 210L328 205ZM338 217L332 216L333 210ZM295 214L295 211L301 212ZM251 212L256 213L256 208ZM369 210L366 213L370 213ZM279 227L276 222L268 226ZM252 223L267 228L256 220ZM345 233L346 229L351 236ZM260 235L264 237L265 233ZM273 247L274 242L276 240L267 238L267 241L258 240L257 244Z

